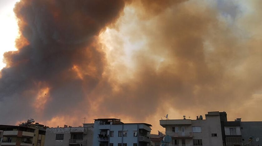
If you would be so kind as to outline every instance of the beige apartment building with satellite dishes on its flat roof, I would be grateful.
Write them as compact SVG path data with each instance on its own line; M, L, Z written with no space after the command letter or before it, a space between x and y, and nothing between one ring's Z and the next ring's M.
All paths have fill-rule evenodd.
M219 112L208 112L205 120L160 120L176 146L223 146Z

